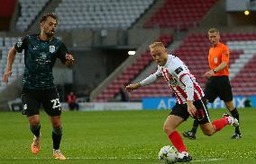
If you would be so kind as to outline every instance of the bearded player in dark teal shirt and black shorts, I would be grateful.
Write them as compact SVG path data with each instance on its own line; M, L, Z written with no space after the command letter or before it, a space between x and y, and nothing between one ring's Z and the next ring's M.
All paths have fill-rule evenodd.
M53 158L66 160L59 151L62 136L61 107L59 95L53 83L52 67L57 58L63 65L70 67L74 63L74 58L62 41L53 37L57 24L56 15L45 14L41 17L40 34L27 35L18 40L9 51L3 82L8 82L8 77L12 74L16 53L21 53L24 49L23 114L29 118L30 129L34 135L32 153L38 154L40 151L39 109L42 105L52 125Z

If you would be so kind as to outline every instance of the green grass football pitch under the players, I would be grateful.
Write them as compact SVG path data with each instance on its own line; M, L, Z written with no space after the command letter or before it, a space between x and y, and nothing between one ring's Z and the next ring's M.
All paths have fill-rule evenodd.
M212 120L226 110L210 109ZM184 138L192 163L256 163L256 109L239 109L242 139L230 139L233 127L208 137L198 129L197 140ZM31 153L32 134L28 120L20 113L0 112L0 163L160 163L158 152L169 145L162 125L168 110L97 111L62 114L61 151L69 159L51 158L49 118L41 112L41 152ZM179 126L178 132L191 127L192 118Z

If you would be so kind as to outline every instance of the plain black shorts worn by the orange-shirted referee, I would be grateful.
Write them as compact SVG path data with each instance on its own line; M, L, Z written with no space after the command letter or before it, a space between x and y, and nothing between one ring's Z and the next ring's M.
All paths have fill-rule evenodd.
M228 76L210 77L206 82L205 89L206 99L214 102L217 97L224 102L233 100L233 94Z

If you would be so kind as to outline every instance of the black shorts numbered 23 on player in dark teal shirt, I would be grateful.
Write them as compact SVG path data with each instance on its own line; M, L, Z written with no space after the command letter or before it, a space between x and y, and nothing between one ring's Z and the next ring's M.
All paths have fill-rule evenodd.
M55 88L49 90L23 89L22 100L23 115L27 115L28 117L39 115L41 105L45 112L51 117L61 114L59 95Z

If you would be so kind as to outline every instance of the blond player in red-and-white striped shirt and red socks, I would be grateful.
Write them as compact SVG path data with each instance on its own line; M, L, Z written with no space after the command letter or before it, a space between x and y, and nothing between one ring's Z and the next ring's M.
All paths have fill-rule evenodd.
M170 90L175 93L177 103L169 113L163 129L169 136L169 141L179 152L178 161L190 161L192 157L188 154L186 146L176 130L178 125L186 121L189 116L197 119L203 133L209 136L220 131L225 125L236 127L239 123L237 119L230 116L211 122L206 108L204 92L198 85L194 75L189 72L187 66L177 56L168 55L161 42L152 43L150 50L153 60L158 65L158 70L141 82L126 86L126 90L137 90L142 86L157 81L160 77L164 77Z

